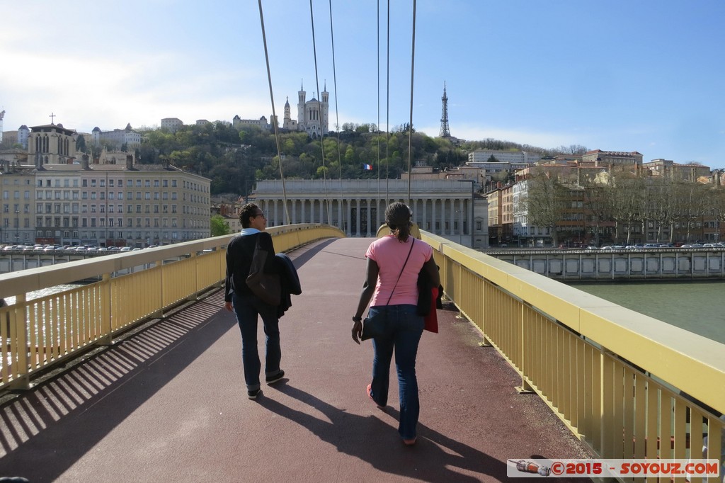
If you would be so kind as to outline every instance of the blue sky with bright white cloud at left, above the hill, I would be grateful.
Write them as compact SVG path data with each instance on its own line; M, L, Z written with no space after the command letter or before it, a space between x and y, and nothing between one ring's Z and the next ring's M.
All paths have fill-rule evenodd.
M330 1L312 1L316 80L310 2L262 1L278 116L289 97L296 117L304 83L308 99L327 86L331 124L407 123L413 1L391 1L389 91L387 2L379 75L378 2L331 3L335 69ZM5 131L51 112L80 132L272 113L257 1L35 0L2 12ZM438 136L446 83L462 139L725 168L723 20L722 0L418 0L413 125Z

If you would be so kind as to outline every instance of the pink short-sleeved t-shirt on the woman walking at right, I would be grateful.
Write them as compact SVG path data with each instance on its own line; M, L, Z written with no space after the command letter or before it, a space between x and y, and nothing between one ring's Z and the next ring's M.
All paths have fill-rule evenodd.
M371 306L418 304L418 273L421 273L423 264L433 256L433 248L421 240L415 240L415 243L413 240L413 236L408 236L407 241L401 243L395 236L388 235L376 239L368 247L365 257L375 260L380 268L373 300L370 301ZM410 251L411 243L413 243L412 252ZM400 269L405 263L408 252L410 252L410 258L401 274ZM399 280L398 275L400 275ZM394 291L393 287L395 287ZM388 302L391 292L393 297Z

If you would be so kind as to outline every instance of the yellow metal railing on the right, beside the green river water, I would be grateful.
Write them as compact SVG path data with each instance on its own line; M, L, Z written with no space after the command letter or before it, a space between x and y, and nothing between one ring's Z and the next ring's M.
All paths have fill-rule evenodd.
M422 232L447 298L601 458L716 458L725 344Z

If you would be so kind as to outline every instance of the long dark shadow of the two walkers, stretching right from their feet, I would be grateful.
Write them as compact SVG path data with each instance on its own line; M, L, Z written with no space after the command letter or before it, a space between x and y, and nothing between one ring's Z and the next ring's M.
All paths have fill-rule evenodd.
M480 478L456 471L456 468L460 468L466 473L486 474L500 481L507 479L505 462L450 439L423 424L418 423L417 444L406 447L395 430L397 423L392 429L390 424L378 416L347 413L289 384L279 384L265 390L273 389L310 405L327 419L315 418L264 396L259 400L263 408L304 426L323 441L335 445L341 453L360 458L378 471L428 482L481 481ZM385 413L387 416L381 411L381 416L393 417L397 421L397 410L388 406Z

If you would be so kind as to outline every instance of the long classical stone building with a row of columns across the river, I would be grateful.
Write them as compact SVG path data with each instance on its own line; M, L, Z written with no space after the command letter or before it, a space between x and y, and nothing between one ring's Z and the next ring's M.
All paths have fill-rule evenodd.
M387 205L394 201L407 203L408 181L257 181L252 198L265 212L268 226L328 223L341 228L347 236L376 236L385 221ZM476 194L472 183L412 181L410 207L421 230L467 247L472 246L472 240L474 248L488 247L486 199Z

